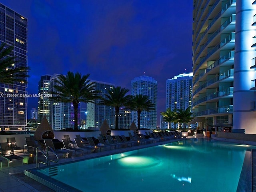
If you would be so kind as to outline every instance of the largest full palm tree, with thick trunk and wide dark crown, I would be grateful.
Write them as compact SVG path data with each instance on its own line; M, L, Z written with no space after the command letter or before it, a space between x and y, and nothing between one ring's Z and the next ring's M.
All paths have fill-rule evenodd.
M80 73L74 74L60 74L55 80L54 91L51 92L53 97L51 100L63 103L72 103L74 107L74 130L78 130L78 105L80 102L95 102L96 99L101 97L98 91L95 90L94 82L90 82L88 77L90 74L81 75Z

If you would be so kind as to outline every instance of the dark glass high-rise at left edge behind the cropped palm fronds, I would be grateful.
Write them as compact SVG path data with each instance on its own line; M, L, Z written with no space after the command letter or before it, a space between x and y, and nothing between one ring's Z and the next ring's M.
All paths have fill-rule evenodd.
M14 46L10 56L15 57L16 66L28 66L28 19L0 4L0 43ZM17 94L0 97L0 129L25 130L27 120L27 84L0 84L0 94ZM20 94L22 95L20 97Z

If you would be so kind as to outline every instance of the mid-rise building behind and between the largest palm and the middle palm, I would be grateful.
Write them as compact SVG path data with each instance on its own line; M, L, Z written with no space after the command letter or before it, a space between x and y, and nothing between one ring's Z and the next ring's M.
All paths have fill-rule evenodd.
M102 98L106 98L105 94L108 94L108 90L111 90L114 87L114 84L101 82L101 81L92 81L95 82L95 90L99 91ZM100 99L94 103L87 103L87 112L86 112L86 128L100 128L104 122L107 121L110 128L114 128L114 107L99 105Z

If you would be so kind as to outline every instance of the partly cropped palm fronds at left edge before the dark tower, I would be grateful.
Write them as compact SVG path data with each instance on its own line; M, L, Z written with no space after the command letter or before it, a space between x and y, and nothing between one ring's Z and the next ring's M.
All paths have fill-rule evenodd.
M15 66L15 57L9 56L14 46L5 48L6 44L0 45L0 83L14 84L20 82L26 84L29 67Z

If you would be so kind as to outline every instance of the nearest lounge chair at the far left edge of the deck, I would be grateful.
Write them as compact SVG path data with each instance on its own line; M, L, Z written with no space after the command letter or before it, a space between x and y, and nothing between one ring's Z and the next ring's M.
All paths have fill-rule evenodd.
M12 145L10 145L8 142L0 143L0 147L1 147L1 156L7 160L8 167L10 166L10 161L22 160L22 164L23 164L23 157L14 155Z

